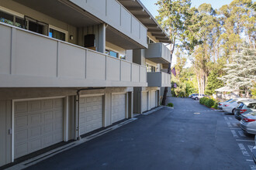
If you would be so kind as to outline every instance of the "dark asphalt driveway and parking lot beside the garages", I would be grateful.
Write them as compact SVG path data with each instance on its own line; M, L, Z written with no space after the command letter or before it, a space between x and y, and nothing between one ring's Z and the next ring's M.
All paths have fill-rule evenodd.
M189 98L161 108L28 169L256 169L254 137L232 114Z

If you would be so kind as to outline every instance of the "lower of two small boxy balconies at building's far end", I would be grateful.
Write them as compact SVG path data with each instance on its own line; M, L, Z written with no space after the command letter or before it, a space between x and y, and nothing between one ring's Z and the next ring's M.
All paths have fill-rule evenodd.
M171 74L164 72L148 72L148 87L171 87Z

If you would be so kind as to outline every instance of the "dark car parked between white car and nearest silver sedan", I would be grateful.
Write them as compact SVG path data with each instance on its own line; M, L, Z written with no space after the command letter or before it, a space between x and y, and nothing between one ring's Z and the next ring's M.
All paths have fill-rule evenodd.
M238 107L234 110L234 116L238 121L241 120L241 114L247 114L256 111L256 100L240 101Z

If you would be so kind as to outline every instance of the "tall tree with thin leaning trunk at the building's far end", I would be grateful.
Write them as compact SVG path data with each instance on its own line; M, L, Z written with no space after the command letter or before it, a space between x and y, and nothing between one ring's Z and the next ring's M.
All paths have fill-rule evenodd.
M159 6L157 10L159 15L156 17L157 22L169 32L169 38L172 42L171 59L177 44L191 51L197 41L189 32L189 26L194 21L192 17L195 10L195 8L190 8L190 0L158 0L156 5ZM171 63L168 64L168 73L171 73ZM167 92L168 87L165 87L162 100L163 105L165 105Z

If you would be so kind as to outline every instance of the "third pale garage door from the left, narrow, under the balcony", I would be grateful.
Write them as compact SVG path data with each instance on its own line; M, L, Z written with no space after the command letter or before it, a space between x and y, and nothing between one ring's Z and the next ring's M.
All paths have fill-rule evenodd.
M112 123L126 118L126 94L112 95Z

